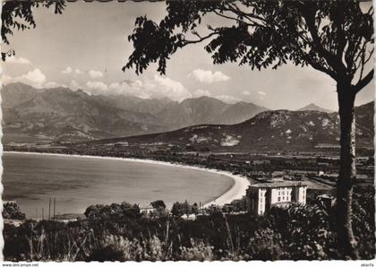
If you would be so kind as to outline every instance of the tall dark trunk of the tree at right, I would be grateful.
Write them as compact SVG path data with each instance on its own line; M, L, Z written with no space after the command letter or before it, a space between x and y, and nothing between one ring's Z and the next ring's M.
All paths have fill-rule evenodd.
M343 250L344 257L359 257L353 233L351 203L353 185L356 178L355 167L355 92L351 85L338 84L338 105L340 118L340 169L337 182L337 224L338 248Z

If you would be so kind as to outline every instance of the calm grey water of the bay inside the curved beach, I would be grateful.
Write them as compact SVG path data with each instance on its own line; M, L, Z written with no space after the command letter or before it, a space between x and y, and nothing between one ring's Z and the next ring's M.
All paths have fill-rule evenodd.
M163 200L210 202L234 185L222 174L145 162L64 155L3 155L3 200L16 201L28 217L45 217L50 198L56 214L83 213L91 204Z

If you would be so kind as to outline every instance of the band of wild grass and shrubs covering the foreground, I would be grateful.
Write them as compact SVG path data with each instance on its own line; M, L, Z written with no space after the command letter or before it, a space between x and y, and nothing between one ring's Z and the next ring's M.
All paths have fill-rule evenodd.
M362 259L375 253L370 195L370 190L356 192L353 207ZM4 225L4 256L12 261L343 259L335 229L334 209L320 201L275 207L263 216L218 211L197 220L122 215L69 223L26 220L17 228Z

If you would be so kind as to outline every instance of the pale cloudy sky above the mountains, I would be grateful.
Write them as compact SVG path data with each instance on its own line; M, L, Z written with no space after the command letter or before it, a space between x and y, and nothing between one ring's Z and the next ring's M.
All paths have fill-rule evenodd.
M122 67L132 53L127 36L136 17L164 17L166 5L152 2L68 3L63 14L34 10L37 27L14 31L9 38L16 56L3 65L2 81L25 82L36 88L69 87L90 94L123 94L143 99L168 97L182 101L209 96L228 103L252 102L270 109L298 109L309 103L337 110L336 82L311 67L287 64L278 70L255 70L237 64L213 65L204 45L184 47L167 62L166 75L157 65L136 75ZM209 17L203 25L221 25ZM203 26L202 26L203 27ZM201 29L204 30L204 29ZM373 82L356 105L372 101Z

